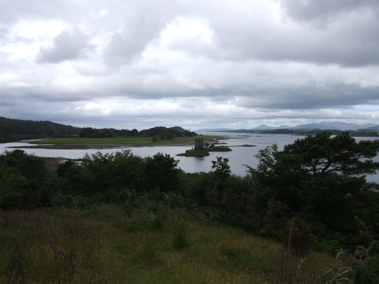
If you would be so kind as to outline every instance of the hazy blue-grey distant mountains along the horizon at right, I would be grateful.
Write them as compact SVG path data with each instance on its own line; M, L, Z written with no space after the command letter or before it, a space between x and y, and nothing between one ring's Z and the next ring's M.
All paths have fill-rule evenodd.
M319 123L309 123L309 124L299 124L296 126L289 126L289 125L280 125L278 127L272 127L265 124L262 124L258 127L251 128L250 130L268 130L268 129L320 129L320 130L327 130L327 129L335 129L335 130L359 130L359 129L374 129L379 130L378 124L373 123L365 123L365 124L356 124L356 123L346 123L346 122L319 122ZM208 132L208 131L226 131L226 130L233 130L230 128L203 128L196 130L195 132Z

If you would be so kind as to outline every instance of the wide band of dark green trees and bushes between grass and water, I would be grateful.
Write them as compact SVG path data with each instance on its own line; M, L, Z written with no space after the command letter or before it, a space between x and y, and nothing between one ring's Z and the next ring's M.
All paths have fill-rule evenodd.
M86 154L81 165L68 160L54 173L42 159L15 150L0 155L0 207L91 209L113 202L125 206L122 214L132 216L135 207L130 204L152 200L259 236L279 240L285 231L294 255L311 245L316 250L351 250L379 235L379 186L364 176L378 167L369 160L378 147L375 141L357 143L346 133L298 139L283 151L273 144L258 151L259 165L247 166L244 177L231 175L229 159L222 157L212 161L209 173L185 174L168 154L141 158L130 150ZM148 217L119 228L158 233L168 226L166 218L152 206Z

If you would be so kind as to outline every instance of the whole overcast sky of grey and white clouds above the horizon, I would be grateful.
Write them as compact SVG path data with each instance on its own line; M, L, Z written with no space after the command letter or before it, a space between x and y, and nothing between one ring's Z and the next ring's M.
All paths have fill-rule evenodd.
M0 116L379 124L378 0L0 0Z

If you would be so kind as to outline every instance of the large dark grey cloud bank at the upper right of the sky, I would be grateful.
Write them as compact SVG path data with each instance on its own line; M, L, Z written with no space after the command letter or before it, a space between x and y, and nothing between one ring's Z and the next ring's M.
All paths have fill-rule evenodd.
M283 2L283 5L297 7L296 3L299 5L303 2L310 3L310 11L315 13L312 16L314 19L319 19L322 15L328 17L328 13L323 11L329 11L329 8L330 15L345 10L354 13L346 12L336 17L333 22L325 20L324 27L317 28L303 22L292 23L288 21L286 14L278 24L270 17L261 19L260 15L248 9L239 17L222 11L215 16L208 15L210 29L215 33L213 45L199 47L196 42L182 42L172 48L186 51L191 56L205 56L216 60L302 61L341 66L379 64L378 1L367 0L361 3L346 0L346 7L343 5L345 0L299 0ZM360 9L362 7L370 9ZM306 12L303 13L299 15L303 15L304 19L313 19Z

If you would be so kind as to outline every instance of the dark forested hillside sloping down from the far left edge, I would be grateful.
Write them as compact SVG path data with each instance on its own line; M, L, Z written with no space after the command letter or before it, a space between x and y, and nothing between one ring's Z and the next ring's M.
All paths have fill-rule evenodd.
M79 134L81 128L50 121L32 121L0 117L0 143L22 139L67 137Z

